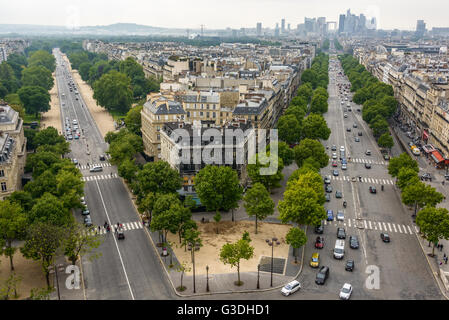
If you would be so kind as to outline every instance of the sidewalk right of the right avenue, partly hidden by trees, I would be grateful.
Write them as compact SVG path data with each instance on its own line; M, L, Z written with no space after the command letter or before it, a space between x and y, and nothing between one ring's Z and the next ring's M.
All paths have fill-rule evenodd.
M397 126L393 127L391 131L394 133L393 138L395 140L398 140L403 145L402 148L406 148L408 146L408 142L411 140L406 138L403 132L398 130ZM406 148L406 150L408 150L408 148ZM413 157L422 158L423 156L420 157L413 156ZM438 170L433 165L429 165L429 163L425 159L417 159L417 161L419 163L421 171L420 174L424 172L429 172L432 175L432 182L429 181L423 182L430 184L432 187L436 188L438 192L441 192L446 198L449 198L449 190L448 190L449 185L445 184L443 186L442 184L442 181L445 181L444 179L445 171ZM449 210L449 203L447 201L443 201L442 203L440 203L439 206ZM416 223L414 222L413 224L416 225ZM446 297L446 299L449 299L449 264L446 264L443 261L444 254L449 255L449 241L444 239L441 240L440 244L443 245L442 251L439 251L437 248L435 248L434 250L435 256L432 257L430 256L432 253L432 244L429 246L429 241L422 238L421 235L419 234L417 234L417 239L421 245L424 255L426 256L429 266L432 269L432 274L434 275L435 280L441 289L441 292Z

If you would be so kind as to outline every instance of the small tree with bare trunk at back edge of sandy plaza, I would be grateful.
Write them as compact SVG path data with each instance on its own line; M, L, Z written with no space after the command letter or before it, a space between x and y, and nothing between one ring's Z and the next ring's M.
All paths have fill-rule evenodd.
M246 213L248 216L263 220L274 212L274 201L270 198L270 193L261 183L255 183L243 197Z

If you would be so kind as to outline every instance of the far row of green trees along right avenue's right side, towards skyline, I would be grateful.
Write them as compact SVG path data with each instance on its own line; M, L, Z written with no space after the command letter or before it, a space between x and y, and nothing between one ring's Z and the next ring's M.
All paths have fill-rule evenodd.
M389 132L388 119L396 112L397 101L393 87L380 82L351 55L339 56L343 70L355 92L353 101L363 105L362 118L373 130L380 147L391 149L394 145Z

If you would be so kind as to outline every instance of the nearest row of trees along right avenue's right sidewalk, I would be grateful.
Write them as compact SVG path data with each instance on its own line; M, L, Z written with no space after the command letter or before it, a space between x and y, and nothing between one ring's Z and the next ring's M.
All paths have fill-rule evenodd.
M401 189L402 203L414 207L416 224L424 238L433 244L434 254L439 240L449 239L449 211L436 208L445 197L419 179L418 163L405 152L391 158L388 173L396 178L396 184Z

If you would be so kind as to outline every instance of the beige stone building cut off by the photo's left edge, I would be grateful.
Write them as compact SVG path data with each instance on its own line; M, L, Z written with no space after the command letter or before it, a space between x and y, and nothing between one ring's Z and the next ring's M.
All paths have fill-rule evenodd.
M26 138L19 113L0 101L0 199L22 188Z

